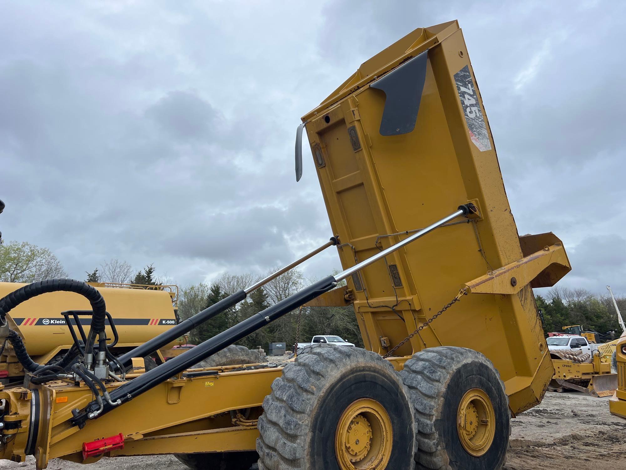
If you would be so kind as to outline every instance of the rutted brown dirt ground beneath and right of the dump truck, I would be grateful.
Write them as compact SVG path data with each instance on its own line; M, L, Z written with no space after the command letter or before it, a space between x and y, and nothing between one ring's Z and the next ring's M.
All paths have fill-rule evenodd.
M626 470L626 420L608 412L607 400L578 392L546 394L540 405L513 419L505 469ZM0 461L0 468L34 470L33 460ZM172 456L104 458L90 465L54 459L48 469L188 470Z

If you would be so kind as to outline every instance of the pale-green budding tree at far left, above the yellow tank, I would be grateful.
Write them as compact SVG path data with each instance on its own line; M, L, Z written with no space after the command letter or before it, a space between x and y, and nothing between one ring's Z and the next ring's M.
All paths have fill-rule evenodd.
M26 241L0 245L0 281L32 283L68 274L48 248Z

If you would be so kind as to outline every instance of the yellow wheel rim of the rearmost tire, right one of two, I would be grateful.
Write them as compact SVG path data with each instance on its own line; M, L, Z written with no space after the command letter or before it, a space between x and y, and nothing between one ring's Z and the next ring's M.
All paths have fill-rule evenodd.
M491 447L496 419L488 395L481 389L468 390L459 403L456 431L468 454L480 457Z

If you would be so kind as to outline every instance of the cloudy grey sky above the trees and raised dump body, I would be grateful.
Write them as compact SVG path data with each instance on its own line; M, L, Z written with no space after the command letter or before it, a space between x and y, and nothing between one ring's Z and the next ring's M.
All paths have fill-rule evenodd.
M4 3L0 229L79 279L110 258L182 285L289 263L331 235L310 157L295 183L299 117L458 19L520 233L563 239L563 286L626 293L625 5Z

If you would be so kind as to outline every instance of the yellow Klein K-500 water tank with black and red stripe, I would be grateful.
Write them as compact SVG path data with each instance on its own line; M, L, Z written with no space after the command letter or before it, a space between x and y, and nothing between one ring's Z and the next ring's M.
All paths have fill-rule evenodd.
M0 283L0 297L7 295L24 284ZM176 325L172 297L166 291L129 288L101 288L108 311L120 336L116 347L135 347L167 331ZM34 360L47 362L62 350L73 344L62 311L91 310L85 297L69 293L55 292L35 297L14 310L8 317L11 329L24 339L26 350ZM81 323L89 332L91 317L83 317ZM108 325L108 322L107 322ZM113 338L111 329L106 327L107 337ZM78 335L78 329L76 329ZM0 364L0 368L3 364Z

